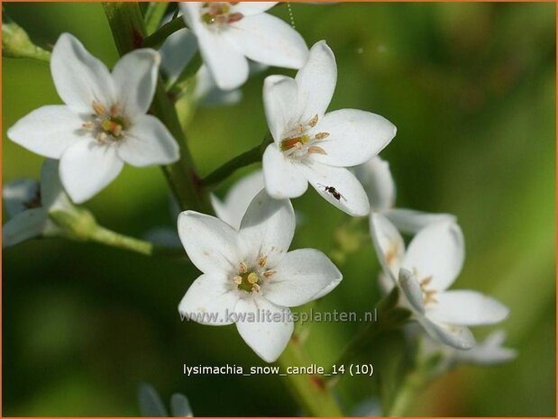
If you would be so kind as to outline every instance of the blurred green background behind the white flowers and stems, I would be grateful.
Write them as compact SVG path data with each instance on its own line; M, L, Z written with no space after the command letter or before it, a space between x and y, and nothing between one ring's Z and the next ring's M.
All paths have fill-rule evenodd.
M455 287L511 308L501 327L517 360L457 369L417 396L409 414L554 415L555 5L291 6L308 45L325 39L336 55L330 109L370 110L398 126L382 152L398 206L459 217L468 257ZM99 4L4 7L40 45L72 32L109 66L117 59ZM272 13L288 21L286 5ZM27 59L3 59L3 70L3 179L38 178L41 158L8 141L5 130L41 105L60 103L50 70ZM262 79L277 72L294 74L270 69L243 88L241 104L200 109L188 124L202 175L261 141ZM294 205L319 222L303 223L292 248L331 252L346 217L315 192ZM175 223L157 168L127 167L87 207L100 223L135 236ZM370 311L379 298L370 241L341 269L343 283L319 309ZM299 414L284 378L182 375L183 363L262 364L234 326L180 322L178 302L196 277L185 262L96 244L43 240L4 250L3 414L137 415L141 381L166 401L186 394L200 416ZM311 327L310 356L327 364L359 324ZM373 354L368 360L376 361ZM343 378L346 411L375 386L375 378Z

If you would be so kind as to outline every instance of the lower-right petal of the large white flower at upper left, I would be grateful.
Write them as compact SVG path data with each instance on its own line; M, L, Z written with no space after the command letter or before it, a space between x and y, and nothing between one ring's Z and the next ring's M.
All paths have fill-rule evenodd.
M133 122L117 150L126 163L140 168L169 164L180 158L177 141L167 127L147 114Z

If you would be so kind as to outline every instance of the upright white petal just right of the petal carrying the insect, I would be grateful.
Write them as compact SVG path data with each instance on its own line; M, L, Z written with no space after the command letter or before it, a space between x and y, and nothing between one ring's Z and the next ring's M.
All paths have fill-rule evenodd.
M374 211L381 213L395 205L397 191L386 160L374 157L354 168L354 175L361 181Z

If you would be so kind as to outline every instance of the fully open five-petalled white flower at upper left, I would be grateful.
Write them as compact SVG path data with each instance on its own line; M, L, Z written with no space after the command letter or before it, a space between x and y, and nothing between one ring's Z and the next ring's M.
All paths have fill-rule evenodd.
M160 121L146 114L155 92L159 55L134 50L112 74L69 33L52 50L50 70L66 105L43 106L8 130L23 147L60 159L62 185L76 203L94 196L123 169L169 164L178 145Z

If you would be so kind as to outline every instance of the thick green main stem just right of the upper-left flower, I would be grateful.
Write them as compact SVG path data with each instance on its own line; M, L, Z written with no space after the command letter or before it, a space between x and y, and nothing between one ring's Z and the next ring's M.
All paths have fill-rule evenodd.
M137 3L104 3L106 18L114 36L118 52L123 55L143 46L145 28ZM195 209L206 214L213 212L209 195L197 177L197 170L190 156L186 136L180 126L174 104L165 93L159 80L151 105L151 113L169 129L180 148L180 159L163 167L169 186L181 209Z

